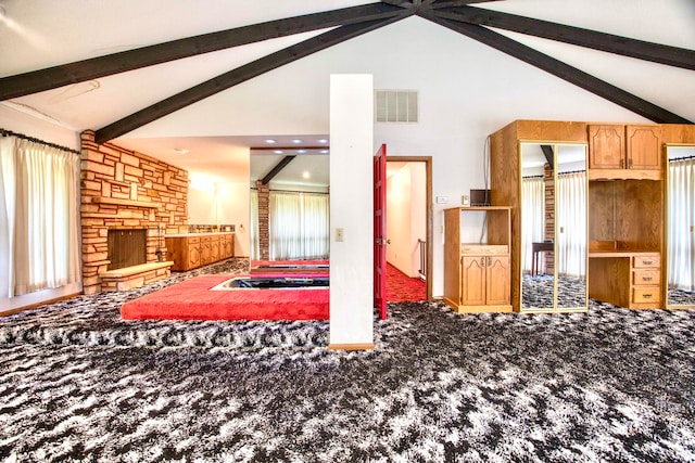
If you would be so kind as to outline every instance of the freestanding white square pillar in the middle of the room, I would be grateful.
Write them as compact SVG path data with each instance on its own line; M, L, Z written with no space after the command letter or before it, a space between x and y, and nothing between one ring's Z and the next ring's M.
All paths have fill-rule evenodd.
M374 343L370 75L330 76L330 345ZM336 229L344 240L336 241Z

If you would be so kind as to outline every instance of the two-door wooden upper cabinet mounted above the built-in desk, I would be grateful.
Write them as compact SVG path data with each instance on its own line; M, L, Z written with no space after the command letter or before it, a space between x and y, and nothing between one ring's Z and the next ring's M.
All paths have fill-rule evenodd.
M661 127L590 125L591 180L661 178Z

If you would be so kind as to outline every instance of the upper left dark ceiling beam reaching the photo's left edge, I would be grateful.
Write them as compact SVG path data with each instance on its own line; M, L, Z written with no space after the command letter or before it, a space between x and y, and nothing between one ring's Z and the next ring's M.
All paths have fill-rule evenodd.
M269 21L62 64L0 78L0 101L202 53L327 27L393 17L402 13L403 9L378 2Z

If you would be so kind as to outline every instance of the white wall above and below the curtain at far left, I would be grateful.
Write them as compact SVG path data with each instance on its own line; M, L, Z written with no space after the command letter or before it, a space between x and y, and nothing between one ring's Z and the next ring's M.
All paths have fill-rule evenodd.
M41 120L0 104L0 128L23 133L50 143L60 144L73 150L79 149L79 134L72 129ZM76 215L79 211L75 211ZM9 262L7 217L0 217L0 311L40 304L83 291L81 282L65 285L55 290L45 290L17 297L9 294Z

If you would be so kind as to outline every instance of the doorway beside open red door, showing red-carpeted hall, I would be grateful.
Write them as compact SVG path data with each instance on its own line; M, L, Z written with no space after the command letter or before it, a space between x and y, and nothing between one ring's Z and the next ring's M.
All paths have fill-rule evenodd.
M392 176L399 177L392 181ZM408 281L417 285L415 280L422 280L425 296L431 300L432 157L387 156L387 290L389 284L412 287ZM393 227L393 219L397 227ZM408 300L414 293L406 290L399 300ZM421 297L410 300L415 299Z

